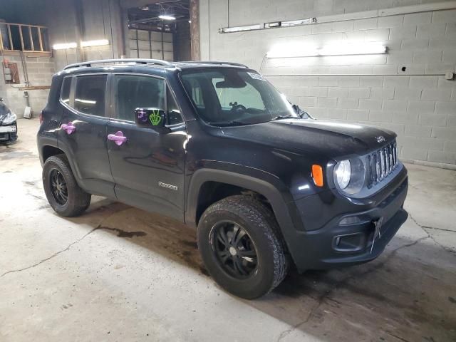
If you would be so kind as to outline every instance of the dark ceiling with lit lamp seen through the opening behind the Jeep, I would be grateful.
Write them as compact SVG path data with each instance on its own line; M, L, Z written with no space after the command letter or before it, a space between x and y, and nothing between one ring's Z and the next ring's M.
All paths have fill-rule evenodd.
M150 4L128 9L129 28L174 32L177 22L189 20L188 0L150 0Z

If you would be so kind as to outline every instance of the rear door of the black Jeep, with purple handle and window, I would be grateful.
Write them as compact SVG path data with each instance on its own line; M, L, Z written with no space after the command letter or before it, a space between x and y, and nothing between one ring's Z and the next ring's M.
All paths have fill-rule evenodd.
M115 198L110 172L106 127L107 74L67 76L61 89L58 147L68 157L73 173L84 190Z

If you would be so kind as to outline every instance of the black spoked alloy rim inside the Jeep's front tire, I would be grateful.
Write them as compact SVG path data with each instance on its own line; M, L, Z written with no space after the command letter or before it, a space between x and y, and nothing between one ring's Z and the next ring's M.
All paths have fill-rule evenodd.
M221 221L214 224L211 244L222 269L236 279L247 279L257 271L257 249L239 224Z

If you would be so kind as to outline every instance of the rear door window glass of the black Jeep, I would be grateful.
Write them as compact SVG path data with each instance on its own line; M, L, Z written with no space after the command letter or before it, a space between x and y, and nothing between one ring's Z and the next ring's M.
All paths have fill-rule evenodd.
M105 116L106 75L76 77L74 109L90 115Z

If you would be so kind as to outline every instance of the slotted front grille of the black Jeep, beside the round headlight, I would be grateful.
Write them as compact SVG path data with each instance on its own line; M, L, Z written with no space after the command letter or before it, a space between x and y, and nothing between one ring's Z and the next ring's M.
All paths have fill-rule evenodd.
M367 158L368 188L383 181L398 166L398 147L396 142L383 146Z

